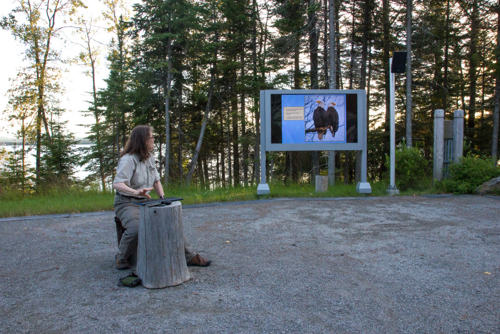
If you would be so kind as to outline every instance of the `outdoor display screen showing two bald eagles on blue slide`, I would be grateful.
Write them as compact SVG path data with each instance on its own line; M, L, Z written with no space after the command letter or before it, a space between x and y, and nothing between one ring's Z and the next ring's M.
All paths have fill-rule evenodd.
M357 143L357 94L270 94L271 144Z

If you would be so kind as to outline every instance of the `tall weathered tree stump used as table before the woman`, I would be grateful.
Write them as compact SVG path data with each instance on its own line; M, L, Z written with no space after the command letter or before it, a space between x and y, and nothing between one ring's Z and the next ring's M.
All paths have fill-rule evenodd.
M167 206L140 207L137 275L141 284L150 289L189 279L179 201Z

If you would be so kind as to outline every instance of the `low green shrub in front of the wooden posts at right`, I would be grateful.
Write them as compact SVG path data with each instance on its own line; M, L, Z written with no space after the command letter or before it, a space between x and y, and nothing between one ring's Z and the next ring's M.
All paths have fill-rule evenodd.
M447 192L470 194L484 181L500 176L500 167L490 158L469 154L460 158L460 163L449 165L448 178L442 181Z

